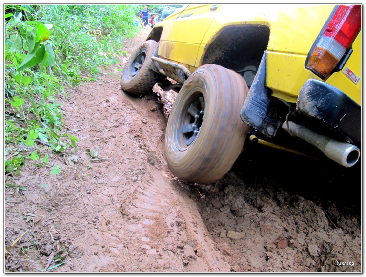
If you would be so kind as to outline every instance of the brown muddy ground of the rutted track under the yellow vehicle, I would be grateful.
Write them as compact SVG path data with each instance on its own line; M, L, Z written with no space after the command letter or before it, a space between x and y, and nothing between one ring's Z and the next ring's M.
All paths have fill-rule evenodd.
M39 146L61 173L26 160L19 176L5 175L6 272L39 272L50 256L50 268L65 261L51 272L361 271L359 166L249 143L217 183L180 180L164 158L175 92L128 96L119 85L128 55L119 58L65 99L77 148ZM95 146L108 159L91 161Z

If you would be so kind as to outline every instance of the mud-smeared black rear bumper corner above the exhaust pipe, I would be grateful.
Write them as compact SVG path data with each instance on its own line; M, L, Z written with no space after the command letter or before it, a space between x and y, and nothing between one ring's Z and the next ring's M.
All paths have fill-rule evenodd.
M300 90L297 110L361 146L361 106L338 88L320 80L307 80Z

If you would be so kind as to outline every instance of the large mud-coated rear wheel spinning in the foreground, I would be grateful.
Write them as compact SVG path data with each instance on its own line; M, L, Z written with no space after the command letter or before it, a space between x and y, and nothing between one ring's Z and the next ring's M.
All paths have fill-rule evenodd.
M203 65L187 79L166 127L165 154L174 175L208 184L230 170L249 129L239 116L248 91L242 76L220 65Z

